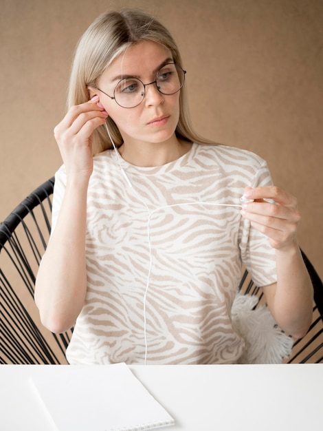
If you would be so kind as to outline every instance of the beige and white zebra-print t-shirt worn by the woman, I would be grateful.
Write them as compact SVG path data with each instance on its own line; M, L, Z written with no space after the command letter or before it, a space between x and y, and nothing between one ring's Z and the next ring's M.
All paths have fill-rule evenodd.
M245 264L276 282L274 249L238 207L243 189L271 184L264 160L193 144L161 167L94 158L87 199L87 296L67 348L70 364L232 364L244 341L230 310ZM56 173L53 229L65 190Z

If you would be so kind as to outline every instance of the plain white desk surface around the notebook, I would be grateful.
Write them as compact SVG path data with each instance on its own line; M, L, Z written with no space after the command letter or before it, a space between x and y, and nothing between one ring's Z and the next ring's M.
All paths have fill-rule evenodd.
M28 383L51 367L0 366L1 431L52 431ZM164 430L323 430L322 365L130 368L175 418Z

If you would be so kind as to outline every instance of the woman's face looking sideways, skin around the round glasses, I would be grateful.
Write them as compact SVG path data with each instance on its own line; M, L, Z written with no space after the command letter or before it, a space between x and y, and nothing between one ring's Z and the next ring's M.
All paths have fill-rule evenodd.
M121 54L99 79L98 87L113 96L117 83L124 76L139 78L144 84L155 81L156 73L165 63L172 63L170 50L159 43L142 41ZM155 84L146 87L146 96L140 105L131 109L120 107L102 92L97 93L100 103L120 130L124 144L164 143L176 139L179 121L179 92L172 95L159 93Z

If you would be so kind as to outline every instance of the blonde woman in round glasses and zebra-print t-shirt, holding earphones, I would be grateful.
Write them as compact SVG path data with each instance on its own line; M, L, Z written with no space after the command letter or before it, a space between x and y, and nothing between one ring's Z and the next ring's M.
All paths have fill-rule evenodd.
M280 328L311 323L296 198L258 156L192 131L185 74L144 12L103 14L78 44L35 292L47 328L74 326L71 364L238 362L241 262Z

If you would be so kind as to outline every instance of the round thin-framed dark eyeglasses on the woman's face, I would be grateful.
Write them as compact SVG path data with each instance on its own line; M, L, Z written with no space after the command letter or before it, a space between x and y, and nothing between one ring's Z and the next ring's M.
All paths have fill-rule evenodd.
M181 90L185 81L186 70L175 63L168 63L161 67L156 74L155 81L144 84L138 78L124 78L115 86L113 96L100 90L103 94L114 99L119 106L124 108L133 108L140 105L146 96L147 85L155 84L161 94L170 96Z

